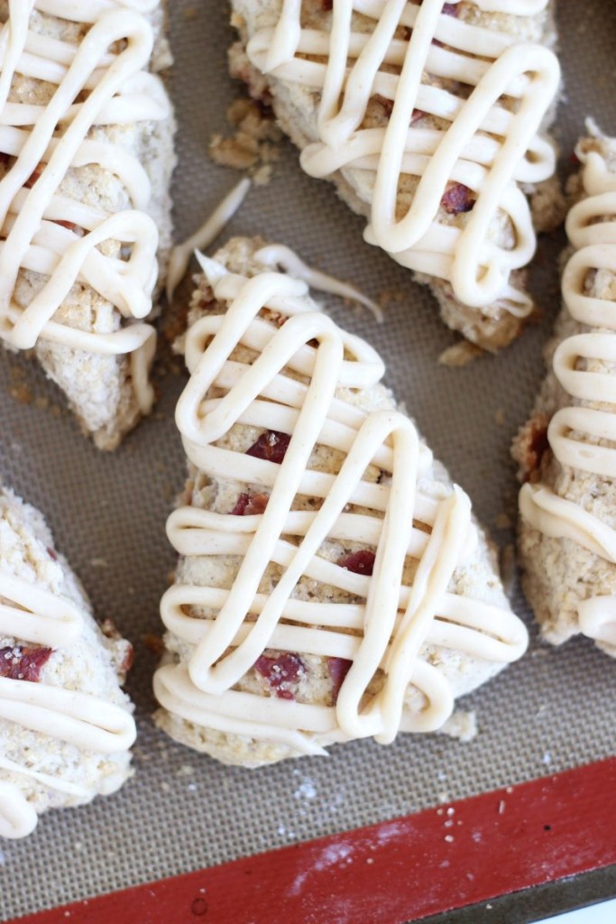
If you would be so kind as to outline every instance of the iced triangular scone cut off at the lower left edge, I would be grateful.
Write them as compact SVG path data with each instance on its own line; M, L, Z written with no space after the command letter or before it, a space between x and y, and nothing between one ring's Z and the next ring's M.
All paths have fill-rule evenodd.
M119 685L131 660L92 618L42 515L0 487L0 839L127 780L135 723Z

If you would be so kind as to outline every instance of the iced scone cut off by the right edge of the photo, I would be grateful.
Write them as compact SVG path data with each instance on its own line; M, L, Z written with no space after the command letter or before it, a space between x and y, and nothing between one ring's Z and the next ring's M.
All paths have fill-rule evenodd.
M616 139L595 131L576 153L550 372L513 446L519 550L545 638L582 632L616 656Z

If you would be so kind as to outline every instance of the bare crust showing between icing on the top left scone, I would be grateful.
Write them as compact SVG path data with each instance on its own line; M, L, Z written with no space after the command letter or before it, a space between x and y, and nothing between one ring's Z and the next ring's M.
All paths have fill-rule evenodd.
M149 17L156 36L151 58L153 72L169 63L168 49L161 32L163 5L164 0ZM0 0L0 20L6 21L7 17L7 0ZM42 37L79 46L89 27L34 9L30 17L30 29ZM160 89L164 93L162 83ZM46 105L55 90L52 83L16 73L8 101ZM172 244L169 188L175 167L174 132L175 120L169 103L169 116L159 121L94 126L87 135L89 140L116 145L126 152L127 157L135 157L151 182L151 198L144 211L157 225L160 236L159 284L154 300L162 286ZM0 176L4 176L8 169L6 162L0 164ZM111 214L134 208L122 179L99 164L70 167L58 188L58 194ZM113 241L107 241L103 245L104 252L111 254L114 246L115 249L119 248L117 242L114 245ZM16 304L20 308L27 308L46 282L46 276L21 268L14 292ZM111 301L81 281L71 287L54 321L96 334L113 334L125 324L120 311ZM129 357L94 353L44 337L39 338L33 354L49 378L65 393L83 432L90 434L100 449L115 449L141 416Z

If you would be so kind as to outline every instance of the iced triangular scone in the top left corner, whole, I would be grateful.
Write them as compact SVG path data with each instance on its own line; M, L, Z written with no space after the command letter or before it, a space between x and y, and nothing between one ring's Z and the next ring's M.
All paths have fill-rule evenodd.
M160 0L0 4L0 342L113 449L148 413L173 116Z

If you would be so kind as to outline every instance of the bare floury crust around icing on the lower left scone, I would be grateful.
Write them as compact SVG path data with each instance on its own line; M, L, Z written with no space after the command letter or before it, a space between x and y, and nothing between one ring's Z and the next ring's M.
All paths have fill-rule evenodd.
M132 660L129 642L115 632L111 623L103 626L106 634L103 633L78 578L55 551L54 538L42 514L0 485L0 602L10 605L11 601L2 596L3 576L49 591L58 601L75 604L82 615L79 638L52 651L38 682L89 694L130 713L132 705L120 688ZM10 654L21 647L32 648L28 640L0 633L0 649ZM0 755L84 791L81 796L66 793L31 775L0 769L2 782L16 786L38 814L47 808L81 805L98 794L113 793L131 775L128 750L97 754L2 718Z

